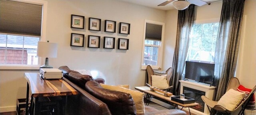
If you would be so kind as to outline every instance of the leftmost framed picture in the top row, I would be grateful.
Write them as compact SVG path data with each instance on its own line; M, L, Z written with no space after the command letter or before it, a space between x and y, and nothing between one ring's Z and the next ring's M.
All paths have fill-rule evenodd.
M71 28L84 29L84 16L71 14Z

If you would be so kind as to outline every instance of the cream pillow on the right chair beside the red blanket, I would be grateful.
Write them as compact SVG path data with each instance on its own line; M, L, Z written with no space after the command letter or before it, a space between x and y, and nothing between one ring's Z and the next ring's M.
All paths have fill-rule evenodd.
M234 89L229 89L218 101L217 105L232 111L241 103L244 99L244 92L239 92Z

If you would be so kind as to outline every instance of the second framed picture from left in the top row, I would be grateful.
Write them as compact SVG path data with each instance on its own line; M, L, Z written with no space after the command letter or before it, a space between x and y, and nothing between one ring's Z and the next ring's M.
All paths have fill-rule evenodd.
M88 30L100 31L101 19L89 18Z

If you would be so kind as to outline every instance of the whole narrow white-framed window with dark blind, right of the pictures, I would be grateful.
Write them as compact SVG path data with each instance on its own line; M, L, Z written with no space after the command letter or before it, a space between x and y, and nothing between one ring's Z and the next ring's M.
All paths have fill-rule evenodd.
M147 65L153 69L161 67L163 32L164 23L145 20L142 69L146 69Z

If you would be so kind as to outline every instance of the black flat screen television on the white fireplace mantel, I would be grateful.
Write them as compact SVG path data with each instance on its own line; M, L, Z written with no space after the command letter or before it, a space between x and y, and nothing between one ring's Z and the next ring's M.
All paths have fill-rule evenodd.
M186 61L185 79L212 85L214 83L214 66L213 63Z

